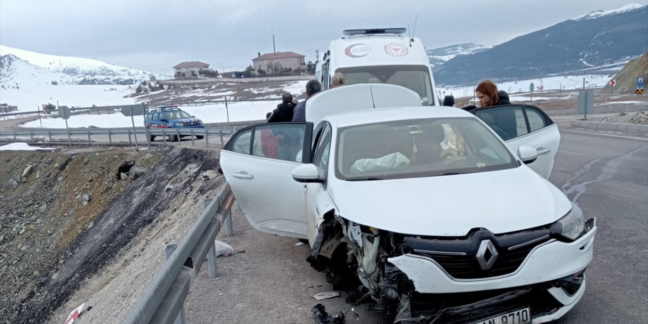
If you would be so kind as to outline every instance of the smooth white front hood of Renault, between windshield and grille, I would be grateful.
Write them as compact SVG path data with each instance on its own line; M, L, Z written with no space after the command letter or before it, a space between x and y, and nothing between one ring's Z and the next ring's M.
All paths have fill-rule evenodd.
M337 214L395 233L464 236L470 229L508 233L550 224L568 198L526 166L426 178L341 181L329 185Z

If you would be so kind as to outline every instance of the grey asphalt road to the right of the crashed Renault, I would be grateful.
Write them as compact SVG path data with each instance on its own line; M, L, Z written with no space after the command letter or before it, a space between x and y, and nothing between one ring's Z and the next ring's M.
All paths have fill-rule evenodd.
M556 323L646 323L648 141L561 130L552 183L596 216L583 299Z

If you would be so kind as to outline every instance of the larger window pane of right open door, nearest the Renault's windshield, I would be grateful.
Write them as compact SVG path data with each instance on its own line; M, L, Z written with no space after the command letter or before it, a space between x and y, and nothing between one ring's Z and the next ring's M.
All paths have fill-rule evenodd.
M476 115L504 141L529 133L524 111L520 106L487 108L476 111Z

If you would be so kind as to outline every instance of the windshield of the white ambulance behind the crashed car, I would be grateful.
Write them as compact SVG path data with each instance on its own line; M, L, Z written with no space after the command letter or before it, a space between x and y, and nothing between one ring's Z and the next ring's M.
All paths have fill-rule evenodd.
M346 84L395 84L415 91L423 106L434 104L430 69L425 65L376 65L337 69L346 77Z

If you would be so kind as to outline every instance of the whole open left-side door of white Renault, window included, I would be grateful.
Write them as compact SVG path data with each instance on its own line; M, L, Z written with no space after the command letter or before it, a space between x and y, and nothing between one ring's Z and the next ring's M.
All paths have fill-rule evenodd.
M292 170L310 158L312 128L310 122L249 126L221 150L223 174L255 229L308 238L305 191Z

